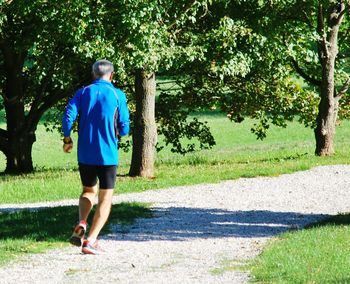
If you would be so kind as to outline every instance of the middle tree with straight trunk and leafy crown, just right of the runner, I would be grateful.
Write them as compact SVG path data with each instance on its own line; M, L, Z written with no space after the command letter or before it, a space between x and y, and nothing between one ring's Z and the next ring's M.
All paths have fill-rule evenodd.
M123 5L118 1L105 4L112 23L105 25L105 29L107 34L113 35L112 40L119 47L114 54L116 61L119 59L119 78L123 77L135 86L136 111L129 174L153 177L157 145L155 75L159 70L169 69L178 58L191 61L195 51L178 44L179 34L187 24L195 21L206 1L122 2ZM118 32L114 33L114 30ZM130 80L131 74L133 80ZM168 121L158 120L161 127ZM201 124L197 123L196 127L200 128Z

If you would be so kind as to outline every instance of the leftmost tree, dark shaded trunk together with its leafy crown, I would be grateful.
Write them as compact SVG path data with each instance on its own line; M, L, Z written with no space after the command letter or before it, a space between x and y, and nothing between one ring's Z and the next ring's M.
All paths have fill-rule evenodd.
M91 59L83 47L91 32L88 23L96 24L87 17L93 8L83 1L0 2L0 90L6 114L0 151L7 173L33 171L40 118L90 79Z

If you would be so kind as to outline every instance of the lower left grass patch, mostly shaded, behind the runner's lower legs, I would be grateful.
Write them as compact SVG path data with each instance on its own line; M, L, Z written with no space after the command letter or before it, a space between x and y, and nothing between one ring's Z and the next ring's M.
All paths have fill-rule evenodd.
M77 216L77 206L0 213L0 265L26 254L67 246ZM121 203L113 206L109 223L130 224L140 217L151 217L148 205ZM109 226L105 226L102 234L108 232Z

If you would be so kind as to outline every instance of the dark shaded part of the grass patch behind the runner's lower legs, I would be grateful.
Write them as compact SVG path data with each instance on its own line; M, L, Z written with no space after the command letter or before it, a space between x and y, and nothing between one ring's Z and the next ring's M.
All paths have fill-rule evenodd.
M94 211L91 212L90 219ZM141 203L113 205L109 223L131 224L136 218L151 217L151 210ZM31 239L35 241L67 241L78 219L77 206L62 206L40 210L0 212L0 241L8 239ZM91 224L91 220L89 220ZM110 227L105 226L104 233Z

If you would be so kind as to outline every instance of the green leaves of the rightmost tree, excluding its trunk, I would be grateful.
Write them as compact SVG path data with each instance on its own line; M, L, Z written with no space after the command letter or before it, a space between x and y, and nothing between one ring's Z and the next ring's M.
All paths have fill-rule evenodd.
M252 131L266 137L271 124L285 127L296 117L315 128L322 66L317 45L318 4L328 13L335 1L213 1L210 14L191 29L192 44L202 50L181 72L183 100L221 109L235 122L258 119ZM327 14L326 21L328 21ZM339 36L336 85L349 78L348 19ZM179 70L175 70L174 72ZM291 78L305 75L300 84ZM310 80L307 80L310 79ZM340 102L340 118L349 116L349 96Z

